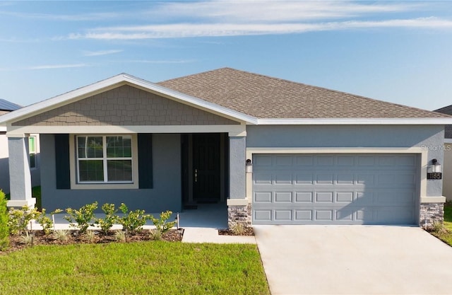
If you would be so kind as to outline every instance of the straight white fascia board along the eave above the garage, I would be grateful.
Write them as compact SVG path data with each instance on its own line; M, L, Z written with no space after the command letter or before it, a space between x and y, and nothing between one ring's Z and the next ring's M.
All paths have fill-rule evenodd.
M452 125L452 118L258 119L258 125Z

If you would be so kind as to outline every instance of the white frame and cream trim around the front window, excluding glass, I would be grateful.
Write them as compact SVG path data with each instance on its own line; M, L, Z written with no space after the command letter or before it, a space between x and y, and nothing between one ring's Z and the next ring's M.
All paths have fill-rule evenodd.
M131 149L132 149L132 181L110 181L110 182L100 182L100 181L90 181L90 182L79 182L78 174L78 144L77 137L102 137L102 149L103 156L105 160L117 160L117 159L129 159L127 158L107 158L105 148L106 137L117 137L117 136L127 136L131 137ZM72 190L108 190L108 189L138 189L138 143L136 134L70 134L69 136L69 153L73 155L73 161L69 163L69 169L71 172L71 189ZM95 158L90 158L95 159ZM104 162L104 175L107 173L105 165L107 161ZM107 179L104 177L104 180Z

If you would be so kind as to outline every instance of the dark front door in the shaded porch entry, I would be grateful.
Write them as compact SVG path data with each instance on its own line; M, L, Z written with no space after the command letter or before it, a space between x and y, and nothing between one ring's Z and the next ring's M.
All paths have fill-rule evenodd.
M193 134L193 199L220 200L220 134Z

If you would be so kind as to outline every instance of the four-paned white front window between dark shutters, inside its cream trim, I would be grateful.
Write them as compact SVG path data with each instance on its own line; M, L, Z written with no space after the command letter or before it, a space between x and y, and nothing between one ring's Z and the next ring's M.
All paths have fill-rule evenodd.
M132 183L131 136L77 137L78 183Z

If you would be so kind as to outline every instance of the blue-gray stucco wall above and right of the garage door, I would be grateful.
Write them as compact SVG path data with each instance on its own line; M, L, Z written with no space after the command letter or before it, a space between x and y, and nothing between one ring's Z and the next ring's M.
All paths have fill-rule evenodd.
M246 147L422 147L443 163L444 127L437 125L248 126ZM428 180L427 197L442 195L442 180Z

